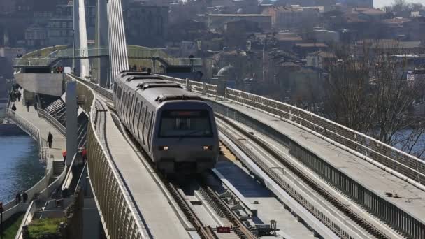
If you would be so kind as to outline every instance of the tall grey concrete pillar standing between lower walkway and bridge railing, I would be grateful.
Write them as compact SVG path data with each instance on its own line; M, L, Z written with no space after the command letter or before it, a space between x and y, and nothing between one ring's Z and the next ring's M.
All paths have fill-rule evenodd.
M66 83L65 96L66 119L66 165L70 166L77 153L77 84L75 81Z

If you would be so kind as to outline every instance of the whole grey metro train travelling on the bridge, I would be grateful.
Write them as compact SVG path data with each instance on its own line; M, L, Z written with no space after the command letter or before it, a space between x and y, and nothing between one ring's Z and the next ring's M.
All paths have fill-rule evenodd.
M114 103L160 171L202 173L217 164L214 113L199 96L157 75L123 71L115 80Z

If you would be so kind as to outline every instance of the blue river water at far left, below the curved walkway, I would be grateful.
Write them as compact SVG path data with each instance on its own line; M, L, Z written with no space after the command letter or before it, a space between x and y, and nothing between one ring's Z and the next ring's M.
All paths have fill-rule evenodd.
M4 202L13 200L17 191L31 188L45 173L36 141L15 131L0 129L0 201Z

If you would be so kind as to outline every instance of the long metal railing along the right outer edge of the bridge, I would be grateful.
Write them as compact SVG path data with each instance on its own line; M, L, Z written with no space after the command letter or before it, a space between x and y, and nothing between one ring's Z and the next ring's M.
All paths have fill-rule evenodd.
M167 80L173 80L180 85L186 85L186 81L178 78L162 75ZM250 94L237 89L226 88L223 96L217 95L217 85L205 84L191 81L190 89L194 92L203 92L210 96L225 98L243 106L273 115L290 122L298 127L307 128L330 140L347 147L352 152L362 154L368 159L373 159L379 164L391 170L401 173L407 180L417 187L425 185L425 162L417 157L407 154L401 150L391 147L385 143L349 129L329 119L315 115L307 110L291 106L287 103L268 99L264 96ZM326 131L324 130L326 129ZM422 184L422 185L418 185Z

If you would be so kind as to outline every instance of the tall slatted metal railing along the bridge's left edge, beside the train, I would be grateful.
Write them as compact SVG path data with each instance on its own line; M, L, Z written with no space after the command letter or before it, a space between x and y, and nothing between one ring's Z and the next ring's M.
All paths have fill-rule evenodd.
M71 75L67 76L72 78ZM90 116L87 127L87 174L106 234L108 238L145 238L141 217L136 213L124 182L96 134L96 96L80 81L77 92L86 96L82 107Z

